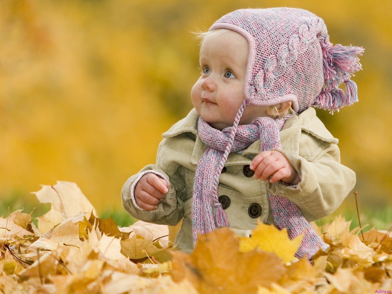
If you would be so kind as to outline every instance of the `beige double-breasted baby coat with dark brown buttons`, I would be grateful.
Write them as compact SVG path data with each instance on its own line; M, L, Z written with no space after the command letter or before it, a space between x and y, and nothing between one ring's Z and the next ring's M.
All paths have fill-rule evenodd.
M192 109L185 118L163 133L156 164L149 164L131 176L121 192L124 209L138 220L169 226L175 226L182 220L174 245L187 253L193 250L194 176L201 155L207 149L198 136L197 119L196 109ZM336 145L338 139L325 128L314 108L289 118L280 136L281 149L274 150L281 152L299 172L301 181L296 186L288 186L281 181L271 184L256 180L249 173L245 176L244 166L250 165L260 153L260 140L252 143L241 154L232 152L227 158L226 171L219 178L218 196L226 195L230 199L225 213L230 228L236 234L249 236L256 227L257 218L263 223L274 224L266 190L272 195L285 196L299 207L308 221L314 221L335 211L354 188L355 173L340 164L340 151ZM147 211L136 205L132 186L134 188L138 179L151 170L169 181L169 192L158 204L158 209ZM256 212L259 212L256 215L260 214L256 218L249 211L253 203L261 207L260 213L256 204Z

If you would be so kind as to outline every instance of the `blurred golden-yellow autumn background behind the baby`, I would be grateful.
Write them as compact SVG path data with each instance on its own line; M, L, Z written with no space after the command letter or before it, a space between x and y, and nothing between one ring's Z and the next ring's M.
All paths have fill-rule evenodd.
M365 48L352 78L359 102L317 113L357 174L362 217L392 223L390 0L0 1L0 215L45 210L30 192L65 180L101 214L129 221L123 183L155 162L162 133L193 107L190 31L235 9L278 6L323 18L333 44ZM356 217L353 193L341 212Z

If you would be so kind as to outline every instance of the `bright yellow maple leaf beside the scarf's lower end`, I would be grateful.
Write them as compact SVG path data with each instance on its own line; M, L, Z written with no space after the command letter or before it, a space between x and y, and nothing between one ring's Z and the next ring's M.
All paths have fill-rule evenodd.
M294 259L304 233L290 240L287 229L278 230L274 225L266 225L257 220L257 227L252 230L250 238L241 237L240 250L247 252L255 248L275 252L284 262Z

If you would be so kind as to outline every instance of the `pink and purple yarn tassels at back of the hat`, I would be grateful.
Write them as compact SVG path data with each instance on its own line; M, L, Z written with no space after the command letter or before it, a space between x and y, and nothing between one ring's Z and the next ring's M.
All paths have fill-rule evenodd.
M323 73L325 87L316 97L312 106L328 109L333 114L335 110L345 105L351 105L358 101L358 88L356 83L350 80L350 75L362 69L358 56L361 56L362 47L342 46L332 44L328 35L321 44L323 54ZM341 83L346 85L346 93L339 89Z

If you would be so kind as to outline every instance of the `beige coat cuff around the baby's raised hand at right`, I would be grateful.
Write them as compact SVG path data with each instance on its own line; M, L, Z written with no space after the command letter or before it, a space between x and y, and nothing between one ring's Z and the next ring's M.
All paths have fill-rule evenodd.
M311 164L302 156L298 155L296 152L273 148L271 150L276 150L281 152L289 163L294 167L296 172L299 174L301 179L297 185L290 185L283 183L282 181L276 181L275 183L270 183L269 180L265 181L267 183L267 190L275 196L285 196L290 200L290 196L296 196L298 199L298 194L303 198L317 189L317 180L315 179L314 172L312 171Z

